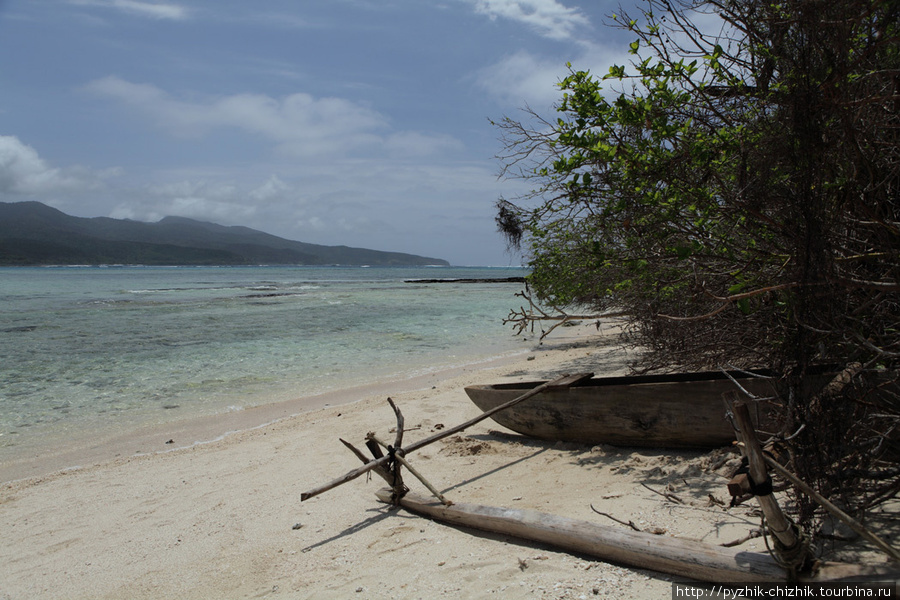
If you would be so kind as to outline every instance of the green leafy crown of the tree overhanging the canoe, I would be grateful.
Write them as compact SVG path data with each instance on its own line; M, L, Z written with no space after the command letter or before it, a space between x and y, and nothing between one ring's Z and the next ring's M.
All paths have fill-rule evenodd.
M833 357L814 356L808 331L788 324L795 303L815 305L816 286L850 252L837 246L857 216L841 211L868 194L853 172L889 164L875 148L893 142L871 127L866 157L847 160L840 145L860 141L851 111L889 81L875 69L897 64L897 45L883 37L895 35L896 11L877 0L822 6L701 3L694 8L725 24L709 37L653 0L641 20L615 17L637 36L631 65L602 77L570 65L557 117L543 122L552 134L507 127L518 134L513 146L530 143L513 163L544 151L523 170L540 182L529 198L538 203L519 213L539 298L627 309L640 341L664 354L649 355L661 366L852 354L838 343ZM872 108L888 118L890 106ZM893 168L882 171L895 185ZM844 239L831 246L832 233ZM756 295L733 299L734 290ZM691 331L672 319L713 312Z

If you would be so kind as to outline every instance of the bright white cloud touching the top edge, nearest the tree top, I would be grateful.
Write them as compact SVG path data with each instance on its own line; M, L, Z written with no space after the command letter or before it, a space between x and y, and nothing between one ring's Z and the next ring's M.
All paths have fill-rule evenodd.
M557 0L474 0L474 4L479 14L524 23L554 40L569 39L578 28L590 26L590 20L577 8L568 8Z

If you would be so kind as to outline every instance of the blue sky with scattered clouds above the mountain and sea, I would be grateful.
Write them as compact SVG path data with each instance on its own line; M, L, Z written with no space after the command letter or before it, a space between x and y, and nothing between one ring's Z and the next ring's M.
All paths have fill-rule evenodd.
M628 63L617 0L0 0L0 202L517 265L491 120Z

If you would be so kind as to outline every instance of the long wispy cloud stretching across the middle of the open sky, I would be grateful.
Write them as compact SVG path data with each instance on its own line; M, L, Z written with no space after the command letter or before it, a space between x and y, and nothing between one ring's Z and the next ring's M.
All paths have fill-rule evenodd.
M461 147L448 135L383 134L390 129L384 115L343 98L236 94L186 101L156 86L114 76L93 81L85 89L151 116L172 135L201 137L219 128L237 129L274 143L278 152L292 157L347 156L363 150L423 156Z

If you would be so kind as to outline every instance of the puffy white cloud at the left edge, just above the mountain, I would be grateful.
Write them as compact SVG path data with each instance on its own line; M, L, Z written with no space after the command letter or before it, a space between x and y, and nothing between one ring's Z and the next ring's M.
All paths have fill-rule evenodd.
M37 150L19 138L0 135L0 195L95 189L100 186L101 178L102 174L81 167L53 168Z

